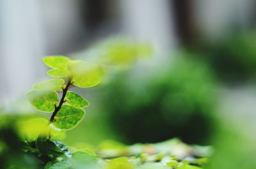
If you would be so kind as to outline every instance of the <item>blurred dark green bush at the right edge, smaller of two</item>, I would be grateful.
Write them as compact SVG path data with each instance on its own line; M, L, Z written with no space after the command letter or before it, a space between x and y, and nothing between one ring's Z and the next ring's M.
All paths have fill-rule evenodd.
M217 43L204 43L200 51L223 82L252 80L256 75L256 31L234 34ZM203 58L205 59L205 58Z

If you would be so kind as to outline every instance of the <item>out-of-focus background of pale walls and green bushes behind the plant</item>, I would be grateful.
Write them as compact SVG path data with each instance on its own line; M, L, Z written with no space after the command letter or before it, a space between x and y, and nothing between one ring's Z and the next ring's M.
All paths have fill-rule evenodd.
M38 114L24 95L45 55L99 62L86 118L64 142L178 137L214 145L216 168L255 168L256 1L0 0L1 114ZM110 59L110 61L109 61Z

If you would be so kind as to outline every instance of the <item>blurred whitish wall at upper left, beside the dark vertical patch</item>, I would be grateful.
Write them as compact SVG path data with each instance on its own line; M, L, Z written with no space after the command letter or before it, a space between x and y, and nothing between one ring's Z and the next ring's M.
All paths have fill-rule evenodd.
M24 100L31 86L46 78L42 57L72 48L77 27L81 27L76 4L68 0L0 1L0 107L12 110L13 101Z

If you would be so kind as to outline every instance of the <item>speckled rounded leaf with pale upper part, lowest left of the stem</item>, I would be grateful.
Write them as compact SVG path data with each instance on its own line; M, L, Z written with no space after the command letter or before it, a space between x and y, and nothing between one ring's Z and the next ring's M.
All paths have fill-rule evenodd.
M59 98L56 91L37 91L33 90L27 94L28 101L33 107L43 112L52 112Z

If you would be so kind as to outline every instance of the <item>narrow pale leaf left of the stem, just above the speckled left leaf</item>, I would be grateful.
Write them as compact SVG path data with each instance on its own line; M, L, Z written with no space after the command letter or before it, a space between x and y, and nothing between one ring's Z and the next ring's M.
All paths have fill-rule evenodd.
M36 84L33 86L33 89L36 90L53 90L53 91L62 91L63 84L65 83L65 80L61 78L54 78L47 80L45 82L42 82L40 84Z

